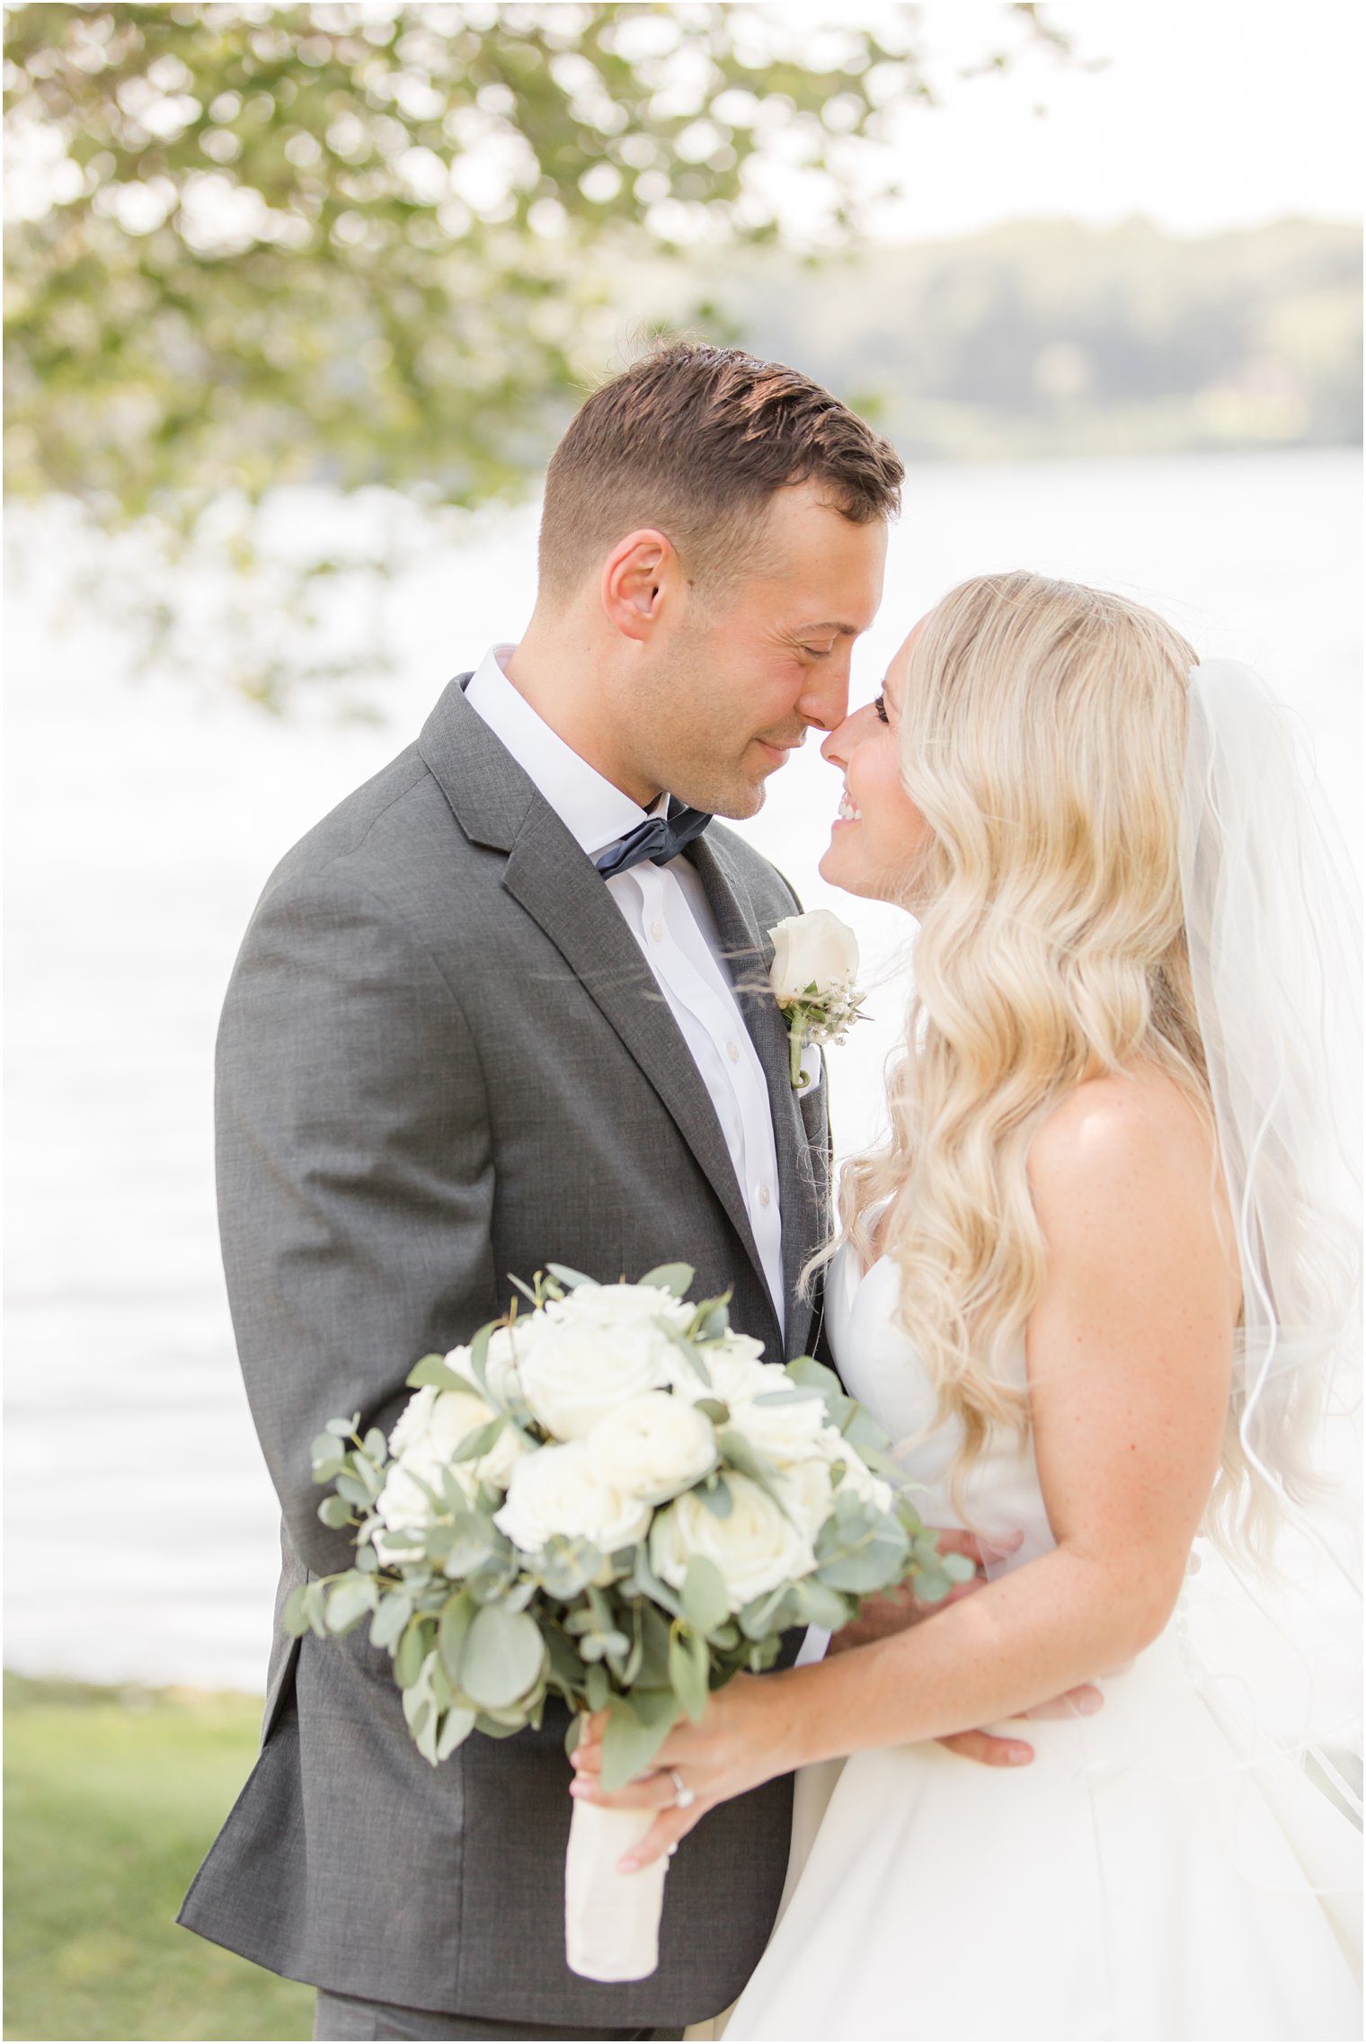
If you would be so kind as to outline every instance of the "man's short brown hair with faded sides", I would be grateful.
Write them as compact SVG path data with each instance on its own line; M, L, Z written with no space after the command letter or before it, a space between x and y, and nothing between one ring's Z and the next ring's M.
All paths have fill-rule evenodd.
M605 382L550 458L540 583L566 601L628 531L673 540L689 583L757 566L775 491L818 482L855 525L902 501L900 456L836 397L738 347L667 341Z

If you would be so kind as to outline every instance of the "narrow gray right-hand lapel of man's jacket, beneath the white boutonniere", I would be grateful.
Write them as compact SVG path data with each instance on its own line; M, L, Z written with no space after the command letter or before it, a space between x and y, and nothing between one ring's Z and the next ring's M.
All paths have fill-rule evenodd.
M820 1145L812 1143L802 1118L802 1106L791 1085L787 1022L769 985L773 944L755 914L738 867L716 830L697 838L685 856L705 887L740 1014L769 1085L783 1200L783 1290L787 1294L783 1347L787 1355L800 1355L810 1333L812 1308L798 1296L798 1278L802 1265L826 1239L826 1141L822 1132Z

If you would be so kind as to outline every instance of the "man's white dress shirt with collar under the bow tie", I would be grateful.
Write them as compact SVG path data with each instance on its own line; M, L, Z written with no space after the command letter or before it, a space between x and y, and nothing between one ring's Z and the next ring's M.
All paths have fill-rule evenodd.
M669 797L642 809L605 781L517 695L503 672L513 646L493 646L464 699L536 783L583 852L663 816ZM722 963L722 940L705 889L687 863L648 858L603 883L669 1002L730 1151L779 1329L785 1325L783 1214L769 1087ZM777 1357L781 1361L781 1357Z

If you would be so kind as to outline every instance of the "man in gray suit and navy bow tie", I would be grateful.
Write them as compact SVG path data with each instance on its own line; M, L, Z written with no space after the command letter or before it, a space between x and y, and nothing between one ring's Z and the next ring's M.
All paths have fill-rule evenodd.
M806 376L677 343L595 392L550 462L517 646L294 846L219 1038L219 1206L241 1367L280 1494L280 1605L348 1566L309 1443L389 1429L405 1376L505 1310L509 1273L687 1261L773 1359L814 1341L824 1083L767 987L787 883L753 816L847 707L902 464ZM673 797L673 799L671 799ZM276 1619L278 1619L276 1607ZM364 1631L276 1623L258 1766L180 1921L319 1987L321 2038L677 2036L765 1946L791 1782L710 1813L661 1964L564 1966L571 1770L542 1731L429 1768Z

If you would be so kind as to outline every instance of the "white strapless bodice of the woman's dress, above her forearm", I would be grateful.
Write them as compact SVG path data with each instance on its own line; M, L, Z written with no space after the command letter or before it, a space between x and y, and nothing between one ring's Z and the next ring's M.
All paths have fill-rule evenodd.
M1018 1529L1024 1543L1014 1566L1047 1553L1055 1541L1039 1490L1033 1439L1020 1443L1012 1433L998 1431L955 1500L951 1470L963 1429L955 1419L937 1419L935 1386L896 1320L898 1288L900 1269L890 1257L861 1271L855 1253L840 1249L826 1310L845 1390L892 1435L896 1459L916 1486L914 1504L926 1525L969 1525L973 1533L988 1535ZM1010 1376L1024 1390L1022 1341L1010 1357Z

